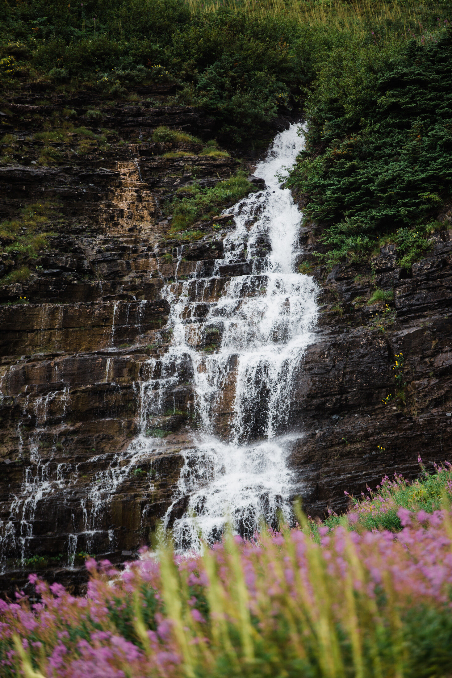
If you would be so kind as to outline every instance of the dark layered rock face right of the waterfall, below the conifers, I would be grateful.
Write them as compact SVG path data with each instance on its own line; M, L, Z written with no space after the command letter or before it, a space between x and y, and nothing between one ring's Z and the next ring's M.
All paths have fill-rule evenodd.
M319 235L306 228L305 260ZM451 252L445 230L411 271L397 267L394 245L368 267L314 269L321 314L293 398L304 435L291 448L311 515L343 511L344 490L357 496L384 475L415 477L418 456L428 469L450 458ZM386 302L367 303L375 287ZM400 353L402 369L394 371Z

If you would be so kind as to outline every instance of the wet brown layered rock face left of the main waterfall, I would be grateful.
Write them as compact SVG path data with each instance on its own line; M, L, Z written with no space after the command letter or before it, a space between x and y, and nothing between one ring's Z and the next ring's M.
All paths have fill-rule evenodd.
M89 104L83 97L63 103L54 96L48 105L13 100L6 116L12 146L29 141L26 159L0 166L1 217L45 205L47 247L30 258L11 247L1 253L1 275L22 265L31 271L0 285L4 594L35 570L82 590L87 554L118 562L150 542L171 503L193 409L190 365L177 365L163 414L144 414L150 361L159 376L168 346L170 306L161 290L176 269L182 279L195 270L209 275L222 256L212 220L194 226L196 241L168 237L163 201L198 178L214 186L239 167L234 158L197 156L201 144L144 140L159 125L211 133L199 109L146 102L103 109L108 144L77 153L74 144L49 141L58 146L57 166L37 164L43 142L32 133L43 120L64 105L83 121ZM156 445L138 465L127 450L140 433Z

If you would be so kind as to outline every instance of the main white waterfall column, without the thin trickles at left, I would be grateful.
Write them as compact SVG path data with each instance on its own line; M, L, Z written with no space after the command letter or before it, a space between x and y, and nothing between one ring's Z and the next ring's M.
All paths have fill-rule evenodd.
M199 548L199 534L210 542L220 538L228 519L234 530L251 536L261 519L275 523L279 511L289 517L291 472L278 436L286 433L291 378L316 319L316 287L293 271L302 215L278 178L304 147L298 131L291 125L278 134L255 170L266 187L234 207L237 228L224 241L224 260L217 260L213 275L225 264L245 264L250 273L232 277L197 323L187 321L190 307L203 300L202 285L211 289L211 278L184 282L178 299L174 285L165 288L173 329L165 363L190 357L202 431L196 447L182 450L178 492L165 516L182 550ZM206 356L197 347L215 332L221 342ZM224 441L215 432L231 376L233 404Z

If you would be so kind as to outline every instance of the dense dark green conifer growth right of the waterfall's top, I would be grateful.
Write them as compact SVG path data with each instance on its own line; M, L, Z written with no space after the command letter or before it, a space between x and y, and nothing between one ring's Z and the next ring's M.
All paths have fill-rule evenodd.
M428 40L354 39L323 66L289 185L327 226L329 264L390 236L409 268L452 199L452 32L438 24Z

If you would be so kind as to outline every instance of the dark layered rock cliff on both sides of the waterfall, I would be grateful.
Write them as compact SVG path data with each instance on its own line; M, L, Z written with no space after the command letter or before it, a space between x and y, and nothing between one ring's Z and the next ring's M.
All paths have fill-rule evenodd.
M82 154L70 141L47 142L59 153L58 165L40 166L39 142L26 142L35 116L42 129L66 107L88 123L90 100L81 94L32 101L30 95L10 102L5 132L14 131L18 152L0 167L3 218L44 204L49 233L37 258L28 262L23 252L8 251L0 263L1 275L16 270L19 258L32 271L0 287L0 589L22 586L27 569L41 567L44 576L79 591L86 553L121 561L150 541L171 504L180 450L195 426L189 363L163 374L159 362L171 311L161 290L176 272L179 281L194 272L211 275L232 226L227 218L204 220L197 240L171 239L162 201L194 178L215 185L239 161L196 155L197 144L147 140L159 125L208 138L211 121L191 108L142 101L104 111L108 146ZM252 172L251 158L241 162ZM314 226L300 231L307 260L318 237ZM259 246L265 252L268 243ZM436 237L409 277L396 268L391 248L371 268L313 271L321 319L295 380L291 425L304 437L290 450L311 515L344 509L344 490L359 493L385 473L412 477L418 454L424 462L449 457L452 235ZM203 298L196 279L190 283L199 317L230 277L248 273L246 266L221 266ZM369 306L375 286L394 290L394 300ZM208 351L215 340L201 348ZM405 361L398 381L405 386L384 404L396 395L392 366L399 353ZM171 386L159 416L149 414L152 378ZM219 407L224 433L228 388ZM146 465L123 454L138 434L156 440Z

